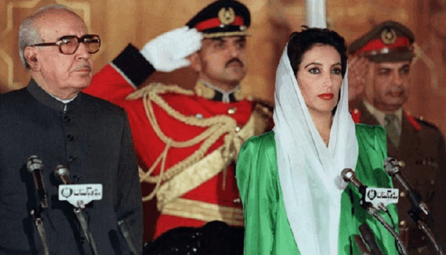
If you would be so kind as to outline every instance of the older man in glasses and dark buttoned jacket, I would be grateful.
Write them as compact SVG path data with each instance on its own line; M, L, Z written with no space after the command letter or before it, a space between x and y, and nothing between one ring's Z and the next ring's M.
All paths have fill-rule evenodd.
M141 194L127 116L80 92L90 84L99 36L52 5L26 17L19 43L32 79L0 96L0 254L140 254ZM73 183L61 194L55 169ZM95 187L88 194L97 200L82 187ZM63 201L73 191L81 196L75 206Z

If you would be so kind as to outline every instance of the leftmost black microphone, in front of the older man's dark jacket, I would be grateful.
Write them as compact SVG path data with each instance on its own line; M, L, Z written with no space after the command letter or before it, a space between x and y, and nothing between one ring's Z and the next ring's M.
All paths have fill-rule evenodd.
M40 208L48 208L48 194L42 179L43 163L36 155L26 160L26 169L33 175L34 195Z

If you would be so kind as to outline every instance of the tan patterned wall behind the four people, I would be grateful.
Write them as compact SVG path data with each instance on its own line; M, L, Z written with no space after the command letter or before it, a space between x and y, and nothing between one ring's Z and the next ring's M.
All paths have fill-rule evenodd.
M132 42L142 47L156 35L183 26L212 0L0 0L0 93L26 86L29 75L17 52L17 31L24 17L48 3L62 3L84 17L91 33L102 38L95 54L95 72ZM291 31L304 24L304 0L243 0L252 12L249 37L249 72L243 90L272 100L275 68ZM446 132L446 27L431 26L443 15L445 0L327 0L328 23L351 42L385 20L413 29L417 44L426 52L426 65L413 65L412 88L406 109L424 116ZM440 19L444 20L444 19ZM443 24L445 24L443 22ZM434 78L434 79L433 79ZM195 75L185 68L174 74L151 77L192 86ZM187 82L183 82L186 80Z

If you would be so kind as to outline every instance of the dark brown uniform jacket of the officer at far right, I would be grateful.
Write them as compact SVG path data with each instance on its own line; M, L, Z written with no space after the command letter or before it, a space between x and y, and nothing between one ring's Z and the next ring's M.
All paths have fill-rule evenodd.
M367 110L364 104L360 103L354 111L354 114L360 114L360 123L369 125L380 125L378 120ZM401 138L399 147L396 148L387 136L387 155L394 157L403 166L401 172L408 179L408 182L420 192L423 201L429 206L429 210L433 216L433 223L430 223L431 229L438 236L440 243L445 239L446 220L443 219L443 212L446 206L445 199L442 199L443 193L446 191L446 154L445 139L443 134L435 125L420 121L403 114L401 127ZM399 189L400 197L397 204L399 216L399 228L408 228L410 230L417 229L417 226L410 219L408 210L411 208L407 194L403 187L394 180L394 186ZM413 232L413 231L410 231ZM420 231L417 231L420 233ZM423 235L410 233L408 236L408 247L424 246L429 241L423 241ZM410 252L410 254L417 254Z

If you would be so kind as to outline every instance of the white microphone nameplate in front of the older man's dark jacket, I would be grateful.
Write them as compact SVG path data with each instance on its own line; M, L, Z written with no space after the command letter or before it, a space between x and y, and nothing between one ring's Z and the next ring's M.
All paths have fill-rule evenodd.
M59 185L59 201L68 201L75 207L83 208L93 200L102 199L102 184Z

